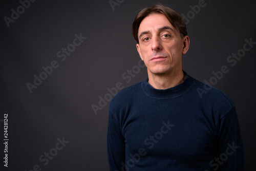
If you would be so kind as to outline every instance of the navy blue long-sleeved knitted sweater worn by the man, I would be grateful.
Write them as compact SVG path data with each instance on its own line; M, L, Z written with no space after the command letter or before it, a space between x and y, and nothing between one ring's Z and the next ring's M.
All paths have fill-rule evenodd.
M109 106L107 145L110 171L244 170L234 104L187 74L173 88L154 89L147 78L120 91Z

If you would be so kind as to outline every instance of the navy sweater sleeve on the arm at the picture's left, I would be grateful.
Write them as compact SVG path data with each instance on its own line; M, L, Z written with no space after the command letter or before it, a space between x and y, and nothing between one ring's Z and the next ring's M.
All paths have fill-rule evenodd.
M121 133L120 124L111 111L109 112L107 148L110 171L124 170L125 142Z

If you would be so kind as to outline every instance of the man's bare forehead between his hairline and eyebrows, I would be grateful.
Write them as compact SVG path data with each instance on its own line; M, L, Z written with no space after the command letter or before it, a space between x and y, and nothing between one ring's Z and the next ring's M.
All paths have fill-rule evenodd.
M170 24L169 20L164 14L154 13L146 16L140 23L138 34L144 31L154 31L162 28L164 26L169 26L173 28L173 25ZM176 29L174 29L176 30Z

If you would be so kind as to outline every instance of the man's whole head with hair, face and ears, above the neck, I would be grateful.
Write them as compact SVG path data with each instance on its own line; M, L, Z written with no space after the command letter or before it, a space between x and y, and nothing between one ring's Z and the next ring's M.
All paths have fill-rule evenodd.
M162 5L144 8L135 17L132 33L148 74L182 70L181 55L188 50L189 38L177 12Z

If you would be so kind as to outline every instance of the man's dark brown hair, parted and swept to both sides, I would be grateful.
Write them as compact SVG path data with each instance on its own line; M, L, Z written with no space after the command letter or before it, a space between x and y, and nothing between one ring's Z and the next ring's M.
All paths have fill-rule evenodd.
M133 22L132 34L135 40L137 41L137 43L139 43L138 31L139 31L141 21L146 16L154 13L164 14L166 18L169 20L170 24L172 24L172 26L180 32L181 37L187 35L186 24L183 18L181 17L181 15L169 7L159 4L159 5L154 5L152 7L143 8L136 15Z

